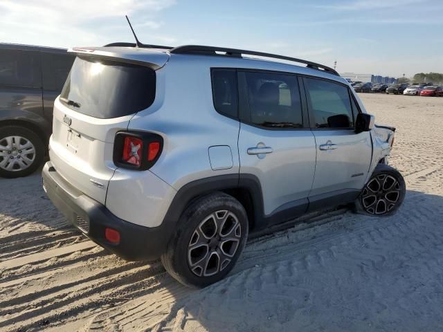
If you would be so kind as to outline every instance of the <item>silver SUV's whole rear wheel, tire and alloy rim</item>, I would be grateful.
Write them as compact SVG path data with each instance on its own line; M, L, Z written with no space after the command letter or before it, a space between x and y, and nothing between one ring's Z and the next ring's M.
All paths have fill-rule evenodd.
M181 284L205 287L232 270L247 238L243 205L222 192L208 194L183 212L161 261Z

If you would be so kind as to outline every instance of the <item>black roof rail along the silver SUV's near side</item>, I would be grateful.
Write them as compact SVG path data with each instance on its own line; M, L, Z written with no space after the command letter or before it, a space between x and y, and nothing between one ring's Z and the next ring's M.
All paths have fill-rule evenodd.
M242 54L244 54L244 55L255 55L257 57L271 57L274 59L293 61L293 62L298 62L300 64L306 64L308 68L323 70L327 73L332 73L334 75L340 76L340 74L338 74L334 69L328 66L323 66L323 64L316 64L315 62L310 62L303 59L297 59L296 57L286 57L284 55L255 52L254 50L239 50L237 48L224 48L224 47L201 46L201 45L183 45L183 46L174 47L170 50L170 53L175 53L175 54L221 55L216 52L224 52L226 53L225 56L230 56L230 57L242 57Z

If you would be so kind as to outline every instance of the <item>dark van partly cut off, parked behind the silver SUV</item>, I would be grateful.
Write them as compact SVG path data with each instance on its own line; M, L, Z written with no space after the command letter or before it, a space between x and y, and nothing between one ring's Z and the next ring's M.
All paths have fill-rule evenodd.
M26 176L42 164L54 100L74 59L64 48L0 43L0 176Z

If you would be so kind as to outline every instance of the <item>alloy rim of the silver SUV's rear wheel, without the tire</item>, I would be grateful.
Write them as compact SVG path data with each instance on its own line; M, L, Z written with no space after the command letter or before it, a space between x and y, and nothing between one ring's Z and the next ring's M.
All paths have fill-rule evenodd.
M192 233L188 245L188 265L198 277L224 270L232 261L242 237L237 216L219 210L206 216Z

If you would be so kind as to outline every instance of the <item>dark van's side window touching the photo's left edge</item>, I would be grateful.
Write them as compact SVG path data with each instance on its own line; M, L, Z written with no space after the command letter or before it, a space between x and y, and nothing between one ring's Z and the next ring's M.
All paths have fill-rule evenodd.
M24 50L1 50L0 85L41 88L39 53Z

